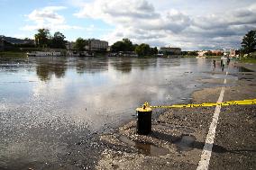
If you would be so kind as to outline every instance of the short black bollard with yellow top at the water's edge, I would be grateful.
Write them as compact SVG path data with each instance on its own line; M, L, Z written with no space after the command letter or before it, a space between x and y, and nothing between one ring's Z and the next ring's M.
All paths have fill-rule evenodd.
M148 135L151 133L151 114L152 110L148 104L144 104L142 108L136 109L137 119L137 133L139 135Z

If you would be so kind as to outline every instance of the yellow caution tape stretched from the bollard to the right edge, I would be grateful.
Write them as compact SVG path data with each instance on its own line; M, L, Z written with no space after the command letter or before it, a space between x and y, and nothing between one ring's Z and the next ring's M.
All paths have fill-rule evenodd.
M228 105L247 105L247 104L256 104L256 99L243 100L243 101L231 101L224 103L190 103L190 104L173 104L173 105L156 105L149 106L151 109L156 108L187 108L187 107L212 107L212 106L228 106ZM148 103L146 105L149 105Z

